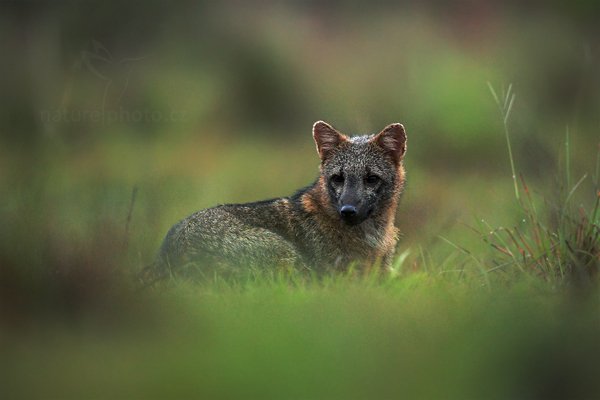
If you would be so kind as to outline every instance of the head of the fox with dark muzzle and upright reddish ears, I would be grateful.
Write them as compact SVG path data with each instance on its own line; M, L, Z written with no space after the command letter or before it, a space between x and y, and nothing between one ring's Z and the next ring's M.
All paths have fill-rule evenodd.
M313 138L321 158L319 184L332 215L358 225L395 211L404 184L402 124L388 125L376 135L348 137L317 121Z

